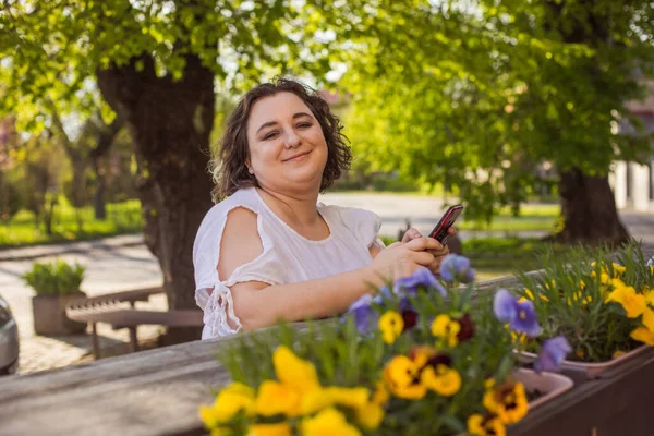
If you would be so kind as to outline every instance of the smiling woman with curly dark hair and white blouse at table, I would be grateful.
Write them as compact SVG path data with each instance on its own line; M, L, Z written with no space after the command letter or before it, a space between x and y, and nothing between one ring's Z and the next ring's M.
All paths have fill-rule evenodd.
M214 199L225 199L193 247L203 339L336 315L385 278L438 268L438 241L411 229L384 247L375 214L317 203L350 160L339 119L302 84L243 97L211 162Z

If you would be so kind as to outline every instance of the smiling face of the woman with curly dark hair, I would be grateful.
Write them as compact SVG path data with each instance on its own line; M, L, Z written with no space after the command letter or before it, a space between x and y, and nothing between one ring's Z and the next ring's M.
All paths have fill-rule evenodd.
M246 162L262 187L275 191L319 190L327 143L311 109L293 93L257 100L247 119Z

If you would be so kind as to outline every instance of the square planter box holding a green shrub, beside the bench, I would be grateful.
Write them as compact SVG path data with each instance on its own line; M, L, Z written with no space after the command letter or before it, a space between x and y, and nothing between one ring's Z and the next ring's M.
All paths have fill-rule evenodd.
M86 330L86 324L69 319L65 316L65 305L71 300L84 296L86 296L84 292L33 296L34 331L44 336L83 334Z

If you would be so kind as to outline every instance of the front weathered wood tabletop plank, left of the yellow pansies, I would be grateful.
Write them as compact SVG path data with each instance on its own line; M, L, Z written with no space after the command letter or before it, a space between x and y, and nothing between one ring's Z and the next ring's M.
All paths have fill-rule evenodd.
M199 428L197 407L229 376L215 361L4 403L2 435L161 435Z

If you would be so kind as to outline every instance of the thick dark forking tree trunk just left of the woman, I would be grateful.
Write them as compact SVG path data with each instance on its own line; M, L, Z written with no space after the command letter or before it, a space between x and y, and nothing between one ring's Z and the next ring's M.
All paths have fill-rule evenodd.
M193 242L211 207L213 183L206 168L214 74L190 55L180 81L157 77L152 58L143 56L99 71L98 85L132 136L145 242L161 266L169 307L195 307ZM197 329L191 337L187 330L169 332L180 340L199 339Z

